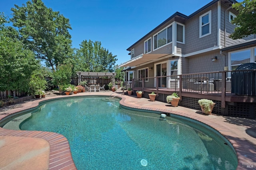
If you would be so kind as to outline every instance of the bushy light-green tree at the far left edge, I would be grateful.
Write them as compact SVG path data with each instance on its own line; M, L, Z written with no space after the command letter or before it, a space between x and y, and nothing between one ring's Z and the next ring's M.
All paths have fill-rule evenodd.
M40 65L33 51L18 40L18 32L5 23L0 14L0 91L27 91L31 73Z

